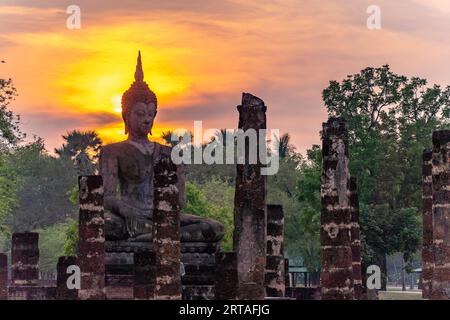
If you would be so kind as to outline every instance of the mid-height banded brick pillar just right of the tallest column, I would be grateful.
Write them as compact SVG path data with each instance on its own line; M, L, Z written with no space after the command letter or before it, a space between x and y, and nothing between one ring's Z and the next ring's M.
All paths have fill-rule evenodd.
M284 297L284 213L279 205L267 206L266 296Z

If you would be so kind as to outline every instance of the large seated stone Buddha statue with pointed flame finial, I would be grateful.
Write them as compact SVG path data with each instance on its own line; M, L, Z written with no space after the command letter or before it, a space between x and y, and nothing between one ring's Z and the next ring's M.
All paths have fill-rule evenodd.
M135 81L122 96L127 140L102 147L100 174L104 184L107 241L152 240L153 164L170 147L149 140L157 113L157 98L144 82L139 52ZM169 150L167 150L169 149ZM180 206L183 206L183 168L178 167ZM224 226L217 221L181 214L182 242L217 242Z

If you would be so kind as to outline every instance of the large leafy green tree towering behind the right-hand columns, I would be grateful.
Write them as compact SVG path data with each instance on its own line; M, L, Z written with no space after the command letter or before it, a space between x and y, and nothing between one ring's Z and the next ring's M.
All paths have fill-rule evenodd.
M397 75L385 65L331 81L323 100L329 116L347 120L365 259L386 273L387 254L409 258L419 247L422 151L434 130L449 127L450 88L428 87L425 79ZM395 239L405 227L414 232L407 234L409 245Z

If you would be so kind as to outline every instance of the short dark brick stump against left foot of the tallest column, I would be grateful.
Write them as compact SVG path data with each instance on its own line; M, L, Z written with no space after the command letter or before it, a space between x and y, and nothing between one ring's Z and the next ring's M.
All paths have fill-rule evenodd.
M237 255L235 252L216 255L215 299L236 300L238 296Z

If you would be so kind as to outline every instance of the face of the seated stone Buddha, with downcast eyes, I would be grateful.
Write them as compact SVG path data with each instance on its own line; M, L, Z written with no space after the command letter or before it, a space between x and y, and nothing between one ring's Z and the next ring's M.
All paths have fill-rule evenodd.
M129 133L134 137L147 137L149 133L152 133L155 116L156 106L154 103L136 103L127 117Z

